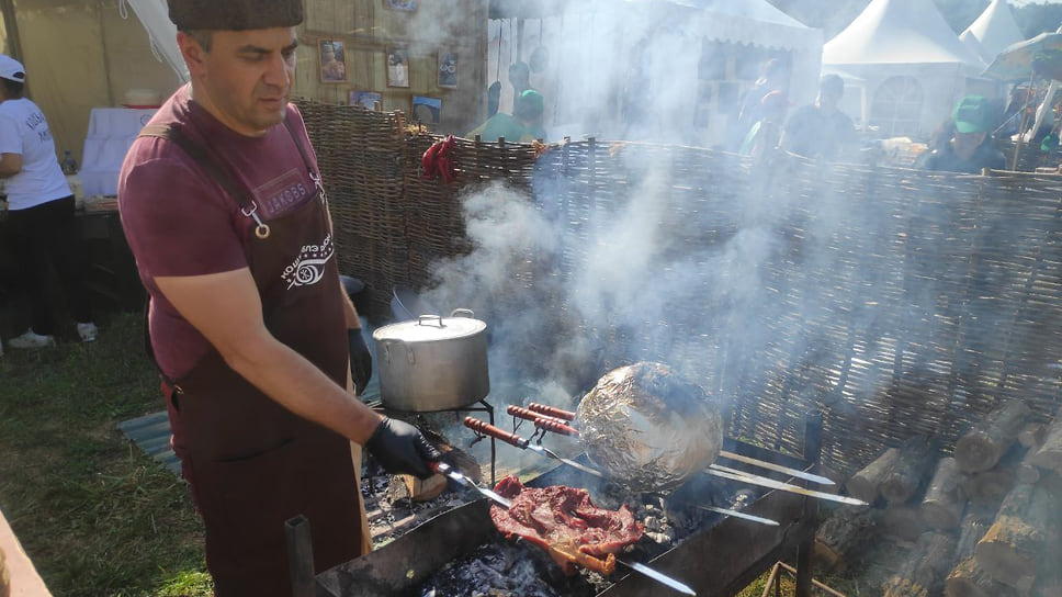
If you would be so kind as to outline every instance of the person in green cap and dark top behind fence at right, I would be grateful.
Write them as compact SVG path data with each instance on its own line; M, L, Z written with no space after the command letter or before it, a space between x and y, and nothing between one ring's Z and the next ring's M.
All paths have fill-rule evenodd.
M950 142L929 154L925 160L926 170L978 174L984 168L1006 168L1003 151L988 135L993 122L988 100L982 95L967 95L956 104L951 116L954 134Z

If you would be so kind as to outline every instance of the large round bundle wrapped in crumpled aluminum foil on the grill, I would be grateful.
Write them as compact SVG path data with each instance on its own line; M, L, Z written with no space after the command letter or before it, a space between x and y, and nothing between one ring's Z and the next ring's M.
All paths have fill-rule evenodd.
M579 403L576 423L590 460L637 492L682 484L723 447L715 401L663 363L606 374Z

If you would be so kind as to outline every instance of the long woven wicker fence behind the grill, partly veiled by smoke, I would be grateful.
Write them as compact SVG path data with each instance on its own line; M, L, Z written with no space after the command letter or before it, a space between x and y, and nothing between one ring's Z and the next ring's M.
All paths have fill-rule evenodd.
M444 184L420 178L436 139L400 115L301 109L342 269L369 284L374 318L394 286L444 284L440 262L462 272L485 250L463 200L490 182L553 226L549 247L470 261L500 260L508 279L454 298L492 324L492 376L585 388L660 360L723 401L728 432L775 448L795 450L803 414L822 410L826 464L846 472L912 433L953 440L1003 399L1058 409L1062 177L459 140Z

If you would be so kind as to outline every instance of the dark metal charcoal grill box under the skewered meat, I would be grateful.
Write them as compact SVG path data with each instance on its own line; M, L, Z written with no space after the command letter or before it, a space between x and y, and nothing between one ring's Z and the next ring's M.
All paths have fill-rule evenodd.
M821 425L821 419L820 419ZM821 427L815 429L809 424L805 439L807 460L773 452L745 442L726 438L724 450L752 457L762 461L792 469L807 470L811 461L817 460ZM585 457L584 457L585 458ZM773 478L791 481L787 475L775 473ZM595 495L595 487L601 480L566 465L560 465L524 483L529 487L567 485L584 487ZM688 536L666 545L664 551L646 550L639 544L624 556L664 573L689 585L702 597L730 596L747 586L781 559L791 557L798 552L810 553L815 534L817 504L812 498L781 491L753 492L733 481L702 474L674 491L666 499L696 505L705 503L711 495L733 495L743 493L748 497L742 511L769 518L778 526L759 525L732 516L712 514L703 518L701 525ZM696 507L696 506L694 506ZM434 595L443 597L443 592L426 592L425 584L438 571L445 570L454 562L474 556L490 544L519 544L521 541L507 540L494 526L489 517L490 502L477 499L439 515L423 525L395 539L393 542L364 555L325 571L314 578L314 590L306 596L316 597L383 597ZM652 542L649 542L652 543ZM658 545L653 544L654 548ZM545 552L534 545L524 545L526 559L549 561ZM477 551L478 550L478 551ZM538 553L541 552L541 555ZM521 555L509 556L521 559ZM810 562L809 562L810 563ZM484 590L484 595L561 595L576 596L660 596L676 594L668 587L641 574L619 566L608 578L597 576L587 582L577 578L558 578L545 567L538 566L541 583L550 585L549 592L495 592ZM556 567L556 566L554 566ZM558 568L557 568L558 570ZM528 574L527 571L521 572ZM495 574L495 573L490 573ZM507 571L506 574L515 574ZM532 572L531 574L534 574ZM294 575L294 572L293 572ZM590 574L589 576L594 576ZM463 581L475 584L472 575ZM297 583L296 583L297 584ZM296 596L303 597L296 587Z

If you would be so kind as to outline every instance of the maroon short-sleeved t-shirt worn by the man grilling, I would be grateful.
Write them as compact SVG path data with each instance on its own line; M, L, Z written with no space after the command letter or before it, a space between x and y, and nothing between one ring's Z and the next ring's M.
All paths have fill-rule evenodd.
M289 117L316 161L294 105L289 105ZM283 124L261 137L241 135L192 100L188 86L174 92L149 124L171 123L181 124L188 137L224 160L225 169L236 177L234 182L250 191L263 222L284 216L314 196L313 179ZM168 376L180 378L210 345L159 292L155 278L246 268L244 241L253 226L248 226L237 201L206 169L173 142L157 137L137 138L125 156L118 207L140 280L151 297L148 325L155 358Z

